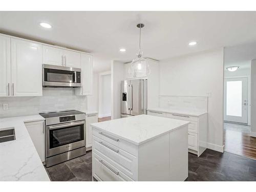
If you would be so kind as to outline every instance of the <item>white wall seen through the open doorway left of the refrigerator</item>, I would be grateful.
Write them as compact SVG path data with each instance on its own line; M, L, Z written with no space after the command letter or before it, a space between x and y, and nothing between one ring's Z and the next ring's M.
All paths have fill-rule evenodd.
M111 71L99 74L99 117L111 116Z

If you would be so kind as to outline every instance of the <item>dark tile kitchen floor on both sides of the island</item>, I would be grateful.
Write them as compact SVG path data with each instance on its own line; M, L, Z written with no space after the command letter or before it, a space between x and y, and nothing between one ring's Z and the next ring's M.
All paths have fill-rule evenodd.
M47 168L52 181L92 181L92 152ZM186 181L256 181L256 160L206 150L188 155Z

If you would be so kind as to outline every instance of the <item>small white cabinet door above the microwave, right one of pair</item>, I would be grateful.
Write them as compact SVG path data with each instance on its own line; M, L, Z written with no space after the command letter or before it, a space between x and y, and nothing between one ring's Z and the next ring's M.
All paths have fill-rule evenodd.
M67 67L80 68L80 53L75 51L63 50L64 63Z

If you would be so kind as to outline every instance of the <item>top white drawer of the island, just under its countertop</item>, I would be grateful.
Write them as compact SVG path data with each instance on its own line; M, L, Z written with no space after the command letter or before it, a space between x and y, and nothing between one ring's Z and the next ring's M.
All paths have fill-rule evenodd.
M102 139L103 141L106 141L121 150L128 152L134 156L136 156L136 148L137 146L133 143L127 142L123 139L120 139L112 134L109 134L108 132L100 131L99 129L96 129L93 127L93 135Z

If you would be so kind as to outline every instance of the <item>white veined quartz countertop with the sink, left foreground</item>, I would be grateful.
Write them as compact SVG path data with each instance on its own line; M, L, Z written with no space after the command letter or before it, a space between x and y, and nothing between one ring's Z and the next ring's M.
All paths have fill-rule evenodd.
M45 120L40 115L0 119L0 130L14 127L16 139L0 143L0 181L50 181L24 122Z

